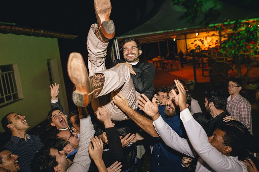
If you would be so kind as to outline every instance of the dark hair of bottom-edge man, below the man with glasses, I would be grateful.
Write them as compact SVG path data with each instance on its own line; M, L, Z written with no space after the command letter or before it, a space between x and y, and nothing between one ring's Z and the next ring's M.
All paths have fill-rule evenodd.
M43 147L31 161L33 172L53 172L56 165L58 162L55 156L50 155L49 147Z

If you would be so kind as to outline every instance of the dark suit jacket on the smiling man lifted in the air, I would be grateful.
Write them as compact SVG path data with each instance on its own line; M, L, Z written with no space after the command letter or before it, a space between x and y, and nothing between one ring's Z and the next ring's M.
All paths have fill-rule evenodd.
M115 59L113 66L123 62L125 61ZM132 65L132 68L137 73L136 75L130 74L136 91L140 94L145 94L151 100L155 93L155 88L153 86L153 81L155 79L154 64L149 62L138 62L137 64Z

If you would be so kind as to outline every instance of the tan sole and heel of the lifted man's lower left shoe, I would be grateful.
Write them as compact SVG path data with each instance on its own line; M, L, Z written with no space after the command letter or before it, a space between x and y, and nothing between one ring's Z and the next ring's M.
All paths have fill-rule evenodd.
M85 62L80 53L72 52L69 55L67 71L69 78L76 87L72 94L73 102L77 106L87 106L93 99L93 88L85 67Z

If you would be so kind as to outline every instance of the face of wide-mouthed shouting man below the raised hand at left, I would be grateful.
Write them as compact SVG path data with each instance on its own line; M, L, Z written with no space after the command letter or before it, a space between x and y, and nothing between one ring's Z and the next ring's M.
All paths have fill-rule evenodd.
M67 116L61 110L54 110L51 114L51 120L50 124L56 126L57 129L68 127Z

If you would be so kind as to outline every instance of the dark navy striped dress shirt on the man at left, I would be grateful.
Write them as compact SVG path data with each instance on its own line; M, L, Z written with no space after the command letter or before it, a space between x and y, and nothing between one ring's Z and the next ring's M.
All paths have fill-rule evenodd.
M31 172L31 160L41 150L43 144L37 136L26 134L26 138L27 142L24 138L12 136L5 147L13 154L19 156L18 160L22 172Z

